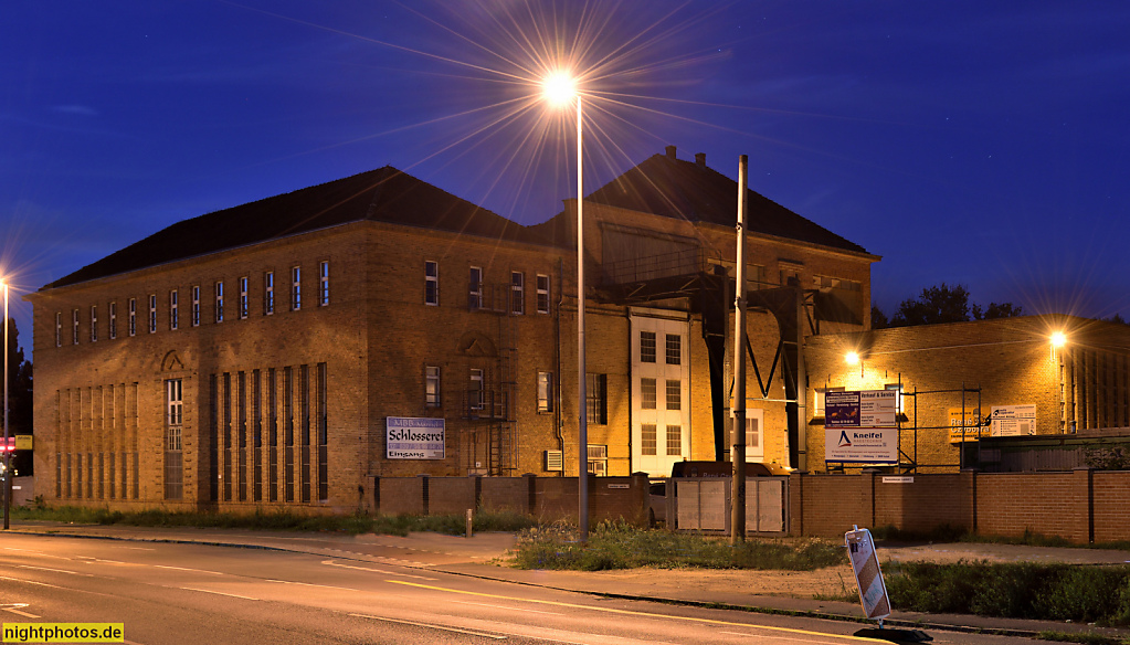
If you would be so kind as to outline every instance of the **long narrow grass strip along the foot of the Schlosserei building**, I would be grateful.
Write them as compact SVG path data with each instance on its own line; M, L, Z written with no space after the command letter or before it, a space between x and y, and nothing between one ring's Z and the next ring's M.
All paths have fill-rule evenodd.
M123 513L107 508L80 506L12 508L16 520L46 520L69 524L119 524L123 526L197 526L205 529L251 529L262 531L312 531L357 535L380 533L407 535L415 531L431 531L447 535L467 532L466 515L302 515L286 511L238 513L193 513L160 509ZM537 523L518 513L479 513L475 516L475 531L521 531Z

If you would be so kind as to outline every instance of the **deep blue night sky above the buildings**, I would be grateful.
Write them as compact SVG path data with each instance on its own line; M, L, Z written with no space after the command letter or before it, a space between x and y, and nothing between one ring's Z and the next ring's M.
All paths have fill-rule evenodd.
M1128 34L1125 0L15 0L0 260L33 290L176 220L384 165L541 221L575 190L572 122L505 79L580 42L606 60L590 190L669 143L730 176L747 154L750 188L884 256L888 314L945 281L1130 319Z

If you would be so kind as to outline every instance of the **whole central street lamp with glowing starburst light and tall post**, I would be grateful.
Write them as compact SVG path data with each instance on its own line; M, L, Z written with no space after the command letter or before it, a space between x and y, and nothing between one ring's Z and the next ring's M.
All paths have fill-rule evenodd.
M581 541L589 540L589 417L585 400L584 366L584 158L581 94L576 79L565 72L555 72L541 84L546 101L562 107L576 101L576 382L577 382L577 524Z

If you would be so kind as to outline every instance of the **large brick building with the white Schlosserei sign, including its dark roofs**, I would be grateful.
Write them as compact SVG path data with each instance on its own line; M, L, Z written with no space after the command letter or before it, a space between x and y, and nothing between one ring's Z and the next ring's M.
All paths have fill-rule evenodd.
M878 258L749 202L749 459L803 467L800 348L867 328ZM591 471L723 450L736 204L736 182L673 147L585 198ZM573 200L522 227L385 167L177 223L56 280L27 297L36 488L350 509L373 477L575 476L574 221Z

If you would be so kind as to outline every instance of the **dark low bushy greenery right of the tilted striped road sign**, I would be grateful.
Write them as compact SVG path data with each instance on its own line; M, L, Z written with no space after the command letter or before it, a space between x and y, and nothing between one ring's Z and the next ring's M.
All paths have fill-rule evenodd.
M1130 567L889 563L890 601L910 611L1130 625Z

